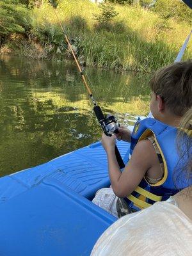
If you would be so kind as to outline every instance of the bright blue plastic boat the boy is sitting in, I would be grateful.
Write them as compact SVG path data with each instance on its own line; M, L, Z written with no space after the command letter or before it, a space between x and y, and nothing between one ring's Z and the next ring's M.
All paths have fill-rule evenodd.
M118 141L125 159L129 143ZM116 218L94 205L109 186L100 142L0 179L0 255L90 255Z

